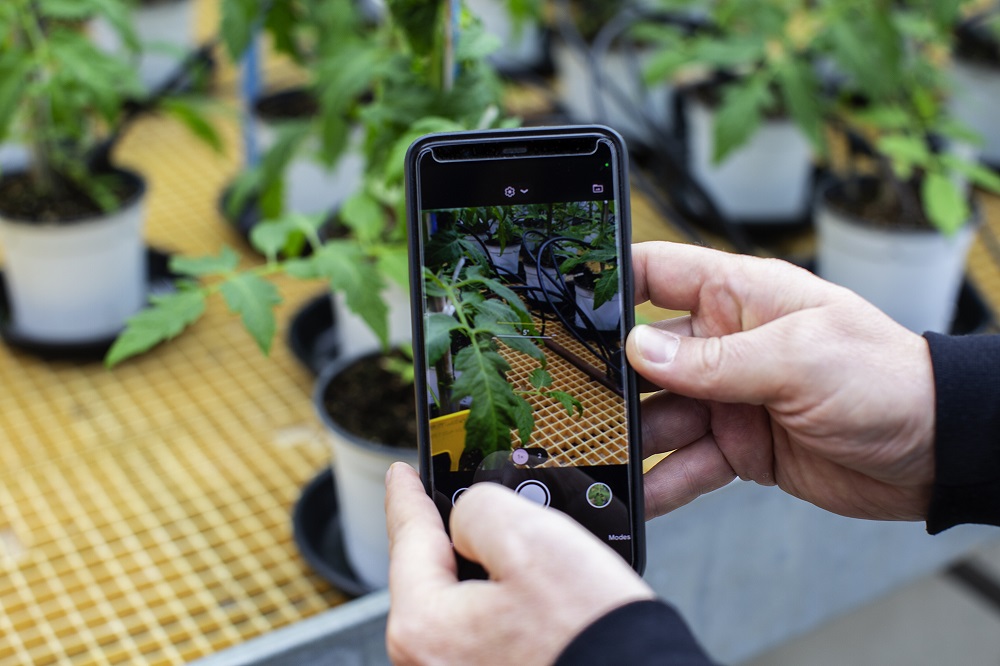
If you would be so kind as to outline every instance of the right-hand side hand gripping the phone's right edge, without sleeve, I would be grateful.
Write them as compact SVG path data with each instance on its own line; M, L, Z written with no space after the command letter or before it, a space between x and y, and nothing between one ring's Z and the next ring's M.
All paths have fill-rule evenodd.
M926 342L856 294L773 259L633 246L636 302L691 312L637 326L647 518L735 476L845 516L919 520L934 480Z

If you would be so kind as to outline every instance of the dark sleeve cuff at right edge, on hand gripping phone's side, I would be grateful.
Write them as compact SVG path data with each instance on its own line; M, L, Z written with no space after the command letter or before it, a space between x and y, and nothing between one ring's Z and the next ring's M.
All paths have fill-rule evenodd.
M936 392L927 531L1000 525L1000 335L924 338Z

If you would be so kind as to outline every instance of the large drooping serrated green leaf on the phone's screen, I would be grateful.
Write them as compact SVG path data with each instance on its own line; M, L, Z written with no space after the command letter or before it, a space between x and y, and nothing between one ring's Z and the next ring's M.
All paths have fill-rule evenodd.
M472 398L465 421L467 446L478 447L484 455L509 449L519 408L519 398L506 380L510 366L495 351L470 345L455 355L455 370L454 398Z

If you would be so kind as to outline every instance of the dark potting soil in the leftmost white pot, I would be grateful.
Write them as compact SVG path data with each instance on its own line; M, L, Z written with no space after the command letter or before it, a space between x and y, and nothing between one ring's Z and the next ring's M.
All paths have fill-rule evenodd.
M108 175L105 185L118 201L128 201L142 190L138 180ZM57 196L38 192L30 174L13 173L0 179L0 214L25 222L72 223L105 211L90 195L66 179L59 182Z

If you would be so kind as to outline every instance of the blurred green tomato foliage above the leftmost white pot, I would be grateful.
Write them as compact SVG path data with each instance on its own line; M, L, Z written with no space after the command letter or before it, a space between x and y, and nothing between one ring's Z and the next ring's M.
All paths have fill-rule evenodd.
M147 91L136 75L139 48L125 0L5 0L0 3L0 141L31 152L32 195L75 189L96 206L119 203L91 164L117 130L131 100ZM101 18L125 46L106 52L83 25ZM196 136L221 148L218 135L190 100L162 105Z

